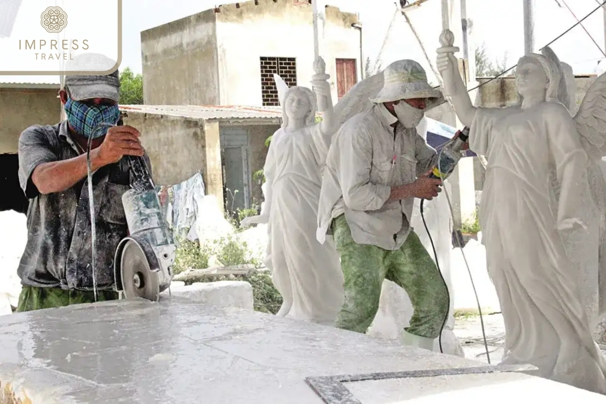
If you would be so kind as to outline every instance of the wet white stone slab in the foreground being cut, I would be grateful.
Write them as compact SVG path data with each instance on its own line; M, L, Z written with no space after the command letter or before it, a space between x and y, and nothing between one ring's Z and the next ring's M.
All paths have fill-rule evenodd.
M425 370L430 373L418 372ZM497 370L341 329L174 297L0 316L0 404L13 403L8 391L31 404L421 404L443 403L446 395L511 403L529 394L548 402L604 400Z

